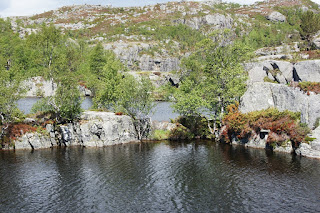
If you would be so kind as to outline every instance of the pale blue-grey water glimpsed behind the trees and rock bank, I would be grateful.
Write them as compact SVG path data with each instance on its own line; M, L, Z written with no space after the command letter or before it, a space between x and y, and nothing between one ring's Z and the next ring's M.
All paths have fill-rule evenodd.
M40 99L41 98L22 98L17 102L18 108L25 114L29 114L32 106ZM171 104L170 102L156 102L154 113L151 114L151 119L155 121L170 121L170 119L178 117L179 114L173 112ZM88 110L91 106L92 98L85 97L81 104L82 109Z

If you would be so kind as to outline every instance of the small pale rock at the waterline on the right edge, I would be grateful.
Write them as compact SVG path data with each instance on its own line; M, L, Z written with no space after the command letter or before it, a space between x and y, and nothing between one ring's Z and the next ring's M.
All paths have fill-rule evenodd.
M296 154L320 159L320 127L312 131L311 138L314 138L314 141L301 143L299 148L296 149Z

